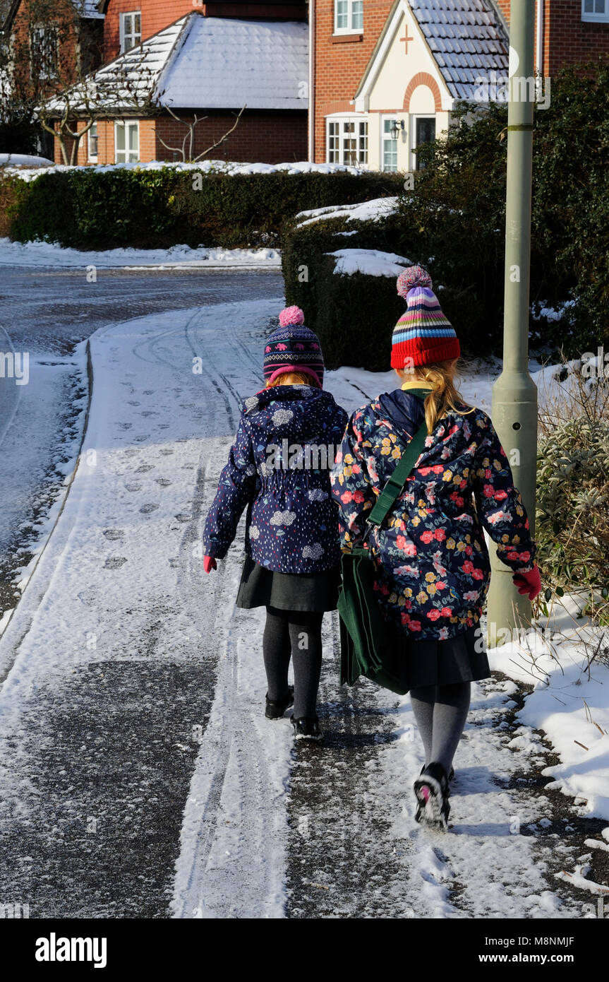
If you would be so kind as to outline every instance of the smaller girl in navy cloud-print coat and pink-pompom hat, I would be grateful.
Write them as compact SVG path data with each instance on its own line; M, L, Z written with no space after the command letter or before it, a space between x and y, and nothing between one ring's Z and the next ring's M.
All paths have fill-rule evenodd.
M340 569L330 468L347 414L323 389L320 342L303 320L299 307L286 307L266 345L266 388L243 404L205 522L204 569L215 570L227 555L247 508L236 605L267 609L266 716L279 719L293 703L295 736L320 739L322 620L336 606Z

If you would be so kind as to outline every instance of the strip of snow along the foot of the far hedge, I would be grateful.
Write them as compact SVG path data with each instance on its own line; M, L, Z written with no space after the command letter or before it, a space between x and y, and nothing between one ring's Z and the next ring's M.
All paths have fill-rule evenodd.
M0 239L0 265L54 266L84 269L273 269L281 264L273 248L170 246L169 248L109 248L100 251L64 248L58 243L16 243Z

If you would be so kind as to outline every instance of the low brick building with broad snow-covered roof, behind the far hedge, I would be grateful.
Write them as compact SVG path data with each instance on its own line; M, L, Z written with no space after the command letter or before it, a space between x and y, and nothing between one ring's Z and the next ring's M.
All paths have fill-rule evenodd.
M127 27L144 28L143 17ZM193 131L187 159L194 159L228 132L243 106L236 128L213 158L306 159L304 20L218 18L190 5L188 14L145 39L129 34L125 46L87 80L105 94L97 102L95 126L80 140L79 164L180 160L188 136L184 123L196 115L205 119ZM86 115L84 106L73 105L76 117Z

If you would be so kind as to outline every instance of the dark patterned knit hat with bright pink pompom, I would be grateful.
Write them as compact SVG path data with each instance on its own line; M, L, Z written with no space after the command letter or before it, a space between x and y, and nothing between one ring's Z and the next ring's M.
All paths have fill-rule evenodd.
M320 386L324 385L324 355L320 340L304 325L304 313L297 306L285 307L279 314L279 327L269 338L264 359L265 382L278 375L302 371Z

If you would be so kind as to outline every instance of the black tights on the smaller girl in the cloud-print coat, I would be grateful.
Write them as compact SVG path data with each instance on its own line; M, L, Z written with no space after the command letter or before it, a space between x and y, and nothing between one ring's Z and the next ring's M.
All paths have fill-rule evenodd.
M313 611L281 611L267 607L262 639L269 698L280 702L287 692L290 656L294 666L294 719L315 716L322 672L322 621Z

